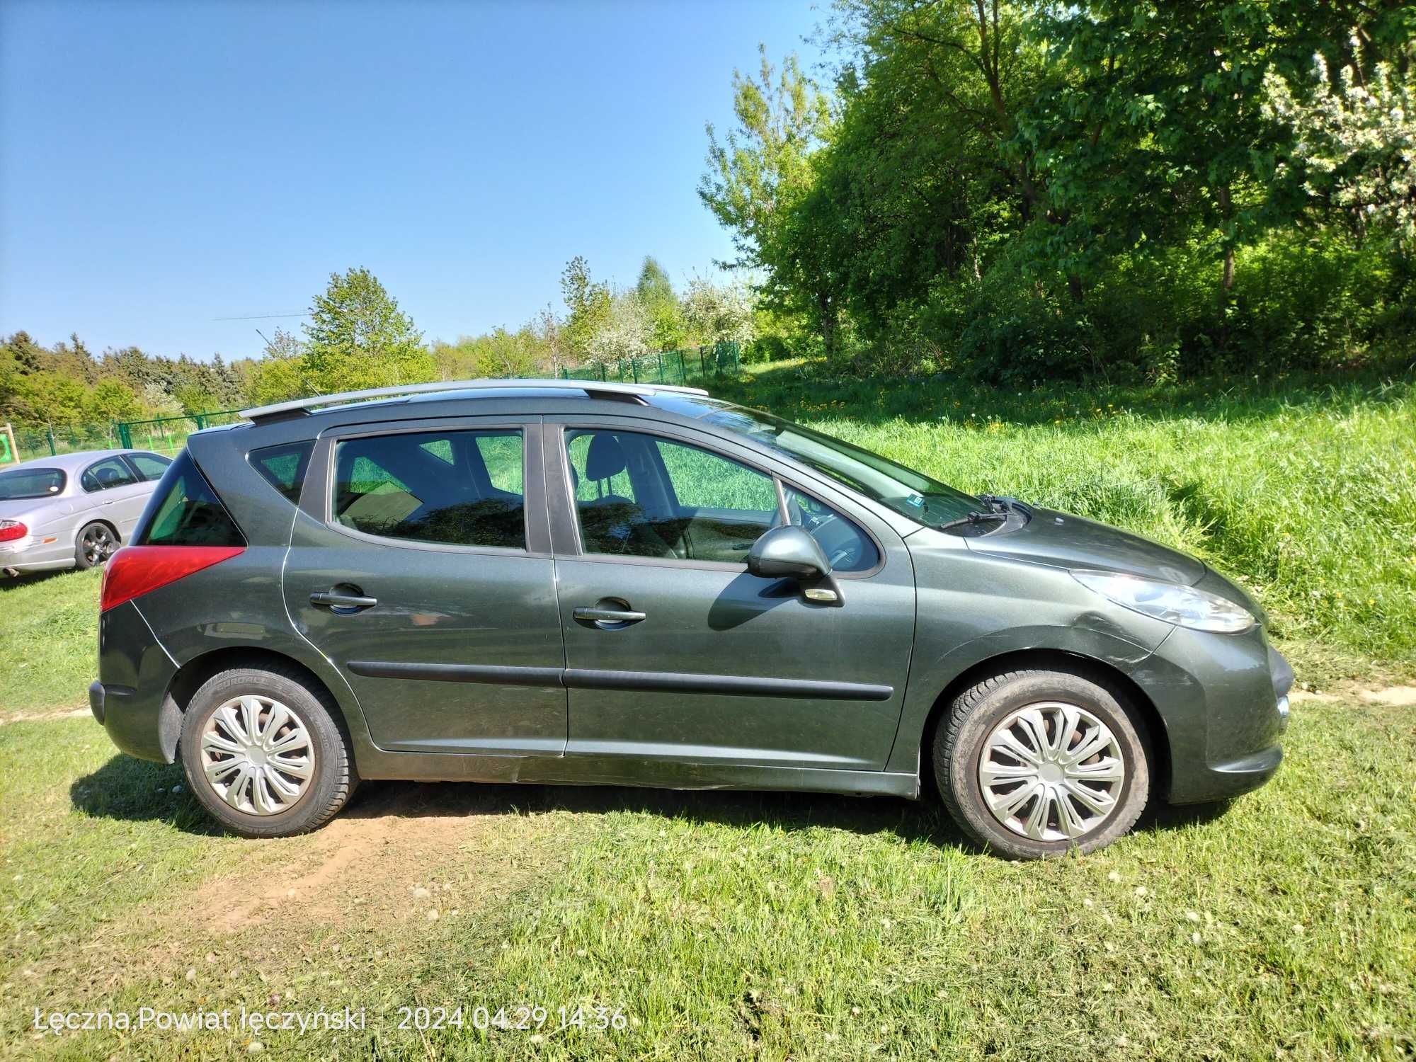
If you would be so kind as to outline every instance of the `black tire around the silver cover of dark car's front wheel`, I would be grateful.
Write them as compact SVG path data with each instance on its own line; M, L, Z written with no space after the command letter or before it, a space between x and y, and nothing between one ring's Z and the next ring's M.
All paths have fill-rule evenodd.
M1116 739L1119 759L1124 766L1119 792L1107 794L1114 803L1104 814L1085 809L1083 804L1066 797L1070 811L1090 816L1085 820L1085 833L1075 838L1035 840L1005 826L990 810L978 776L980 760L990 735L1012 712L1046 702L1075 705L1104 724ZM1046 731L1049 739L1055 733L1056 724L1051 724L1051 728ZM1078 729L1072 735L1073 746L1080 746L1086 741L1086 733L1089 732ZM1000 753L995 752L988 755L991 763L1022 765L1021 759L1008 760L1007 756L1000 759ZM1100 753L1093 759L1100 759ZM1107 758L1112 759L1114 758ZM963 691L949 705L935 731L933 769L939 794L959 827L978 844L1011 860L1041 860L1063 855L1073 848L1079 852L1103 848L1136 824L1150 799L1150 748L1144 724L1119 691L1065 671L1008 671ZM1104 786L1104 783L1097 784ZM1012 786L995 782L994 786L997 786L995 794L1008 796L1021 794L1025 783ZM1041 792L1041 787L1035 792ZM1024 803L1024 811L1035 807L1032 800L1041 797ZM1044 807L1042 833L1062 833L1061 827L1048 828L1058 821L1061 810L1055 803ZM1024 811L1017 817L1022 818Z

